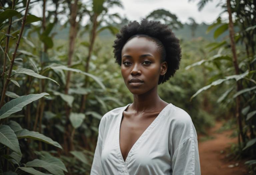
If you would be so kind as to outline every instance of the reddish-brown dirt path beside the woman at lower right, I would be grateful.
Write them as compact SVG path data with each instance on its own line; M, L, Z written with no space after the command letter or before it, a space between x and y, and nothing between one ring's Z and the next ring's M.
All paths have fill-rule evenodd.
M198 149L202 175L247 175L248 170L244 165L245 161L229 161L225 156L226 148L230 143L237 143L237 138L230 138L232 130L216 133L222 122L216 122L216 125L209 129L210 140L200 141L203 136L198 136ZM238 164L237 164L238 163ZM229 167L229 166L234 167ZM237 165L237 166L236 166Z

